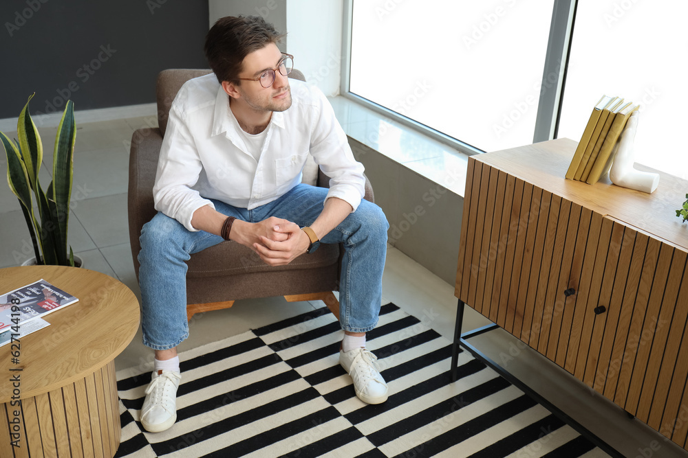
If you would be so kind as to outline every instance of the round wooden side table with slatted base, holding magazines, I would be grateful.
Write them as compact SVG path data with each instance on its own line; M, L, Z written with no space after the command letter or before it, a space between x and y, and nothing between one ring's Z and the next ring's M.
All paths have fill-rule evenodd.
M121 435L114 358L138 330L138 299L103 273L62 266L0 269L0 294L41 278L79 301L21 338L19 356L0 347L0 456L113 457Z

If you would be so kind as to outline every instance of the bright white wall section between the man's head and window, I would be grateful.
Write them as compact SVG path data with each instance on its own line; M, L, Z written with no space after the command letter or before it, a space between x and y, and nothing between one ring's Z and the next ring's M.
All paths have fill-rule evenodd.
M342 23L342 0L287 0L287 52L328 97L339 93Z

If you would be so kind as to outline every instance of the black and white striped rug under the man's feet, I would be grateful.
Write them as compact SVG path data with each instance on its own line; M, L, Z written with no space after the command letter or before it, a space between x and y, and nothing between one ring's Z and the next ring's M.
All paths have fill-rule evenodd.
M321 308L180 355L178 420L138 422L152 368L119 371L117 457L607 457L555 415L394 304L367 347L391 395L367 405L338 364L341 330Z

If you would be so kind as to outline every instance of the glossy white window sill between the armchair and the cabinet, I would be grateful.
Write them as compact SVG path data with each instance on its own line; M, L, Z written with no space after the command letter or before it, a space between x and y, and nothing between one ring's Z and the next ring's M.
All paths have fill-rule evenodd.
M468 156L361 104L330 98L345 133L420 176L464 196Z

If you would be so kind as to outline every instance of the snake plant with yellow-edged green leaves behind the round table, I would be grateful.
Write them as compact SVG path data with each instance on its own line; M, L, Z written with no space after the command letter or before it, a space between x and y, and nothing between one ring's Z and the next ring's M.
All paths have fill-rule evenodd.
M72 247L67 246L69 200L74 166L74 104L67 101L57 128L52 162L52 181L47 190L39 183L43 143L29 114L32 94L19 114L14 143L0 132L7 154L7 181L19 199L31 236L36 264L74 266ZM34 196L36 198L34 205ZM67 249L68 248L68 249Z

